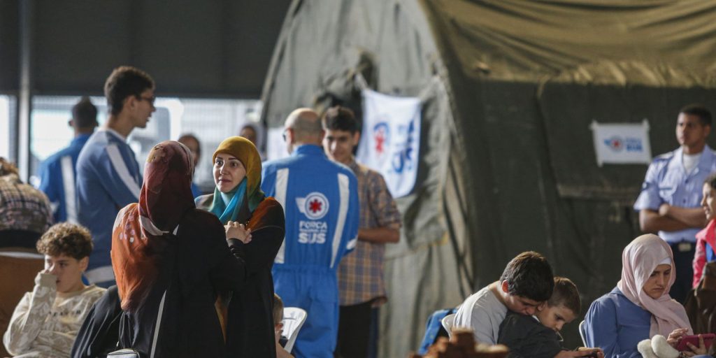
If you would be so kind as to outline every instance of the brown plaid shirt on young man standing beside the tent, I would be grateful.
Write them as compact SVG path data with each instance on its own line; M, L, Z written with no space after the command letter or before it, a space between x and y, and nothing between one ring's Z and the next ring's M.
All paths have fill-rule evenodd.
M359 228L400 228L400 212L388 191L382 175L352 161L348 165L358 179L360 203ZM373 301L379 306L387 301L383 282L384 243L357 241L357 246L341 260L338 288L341 306Z

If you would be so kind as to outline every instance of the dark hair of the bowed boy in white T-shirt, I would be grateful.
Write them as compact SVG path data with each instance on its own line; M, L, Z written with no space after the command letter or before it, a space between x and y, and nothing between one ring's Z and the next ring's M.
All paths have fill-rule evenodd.
M505 267L500 281L507 281L508 294L538 302L547 301L554 289L552 267L539 253L526 251Z

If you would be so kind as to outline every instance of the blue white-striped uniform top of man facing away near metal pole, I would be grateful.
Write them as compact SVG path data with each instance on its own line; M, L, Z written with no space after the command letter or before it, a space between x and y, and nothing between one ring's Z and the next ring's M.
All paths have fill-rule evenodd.
M77 223L77 195L74 190L77 157L89 139L89 134L77 135L68 147L45 159L37 171L42 190L52 205L55 223Z

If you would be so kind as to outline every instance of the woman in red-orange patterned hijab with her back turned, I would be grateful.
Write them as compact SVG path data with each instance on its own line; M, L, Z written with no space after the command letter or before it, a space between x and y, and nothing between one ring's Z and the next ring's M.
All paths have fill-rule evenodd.
M195 208L192 174L187 147L155 145L140 202L117 214L112 268L124 315L122 348L154 357L226 354L213 304L218 291L245 284L243 243L227 244L216 216Z

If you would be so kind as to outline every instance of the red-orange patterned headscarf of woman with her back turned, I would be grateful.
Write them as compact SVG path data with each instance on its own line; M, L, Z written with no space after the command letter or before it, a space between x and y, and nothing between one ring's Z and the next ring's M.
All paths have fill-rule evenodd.
M112 268L122 309L134 311L157 279L161 253L181 218L195 208L191 193L193 162L175 141L152 149L144 169L139 203L120 211L112 230Z

